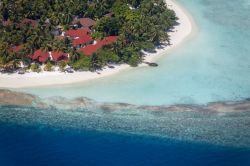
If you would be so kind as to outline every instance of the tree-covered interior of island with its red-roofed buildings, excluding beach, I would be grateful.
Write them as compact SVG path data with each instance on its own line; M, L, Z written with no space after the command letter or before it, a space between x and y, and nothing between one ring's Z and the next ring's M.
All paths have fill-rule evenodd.
M0 12L0 68L20 74L137 66L177 19L163 0L2 1Z

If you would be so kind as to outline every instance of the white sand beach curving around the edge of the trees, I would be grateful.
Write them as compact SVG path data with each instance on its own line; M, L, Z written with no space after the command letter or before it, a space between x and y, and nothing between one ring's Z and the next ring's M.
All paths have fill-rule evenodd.
M194 24L189 13L174 0L166 0L168 7L176 12L180 23L170 32L171 45L161 49L157 49L156 53L147 54L144 58L146 62L154 62L157 58L166 54L170 50L180 46L191 34L196 31ZM145 66L141 64L140 66ZM97 78L102 78L110 75L117 74L124 70L132 69L129 65L123 64L115 66L115 69L106 67L100 73L96 72L75 72L75 73L62 73L62 72L42 72L42 73L26 73L19 74L0 74L0 88L22 88L22 87L36 87L48 85L63 85L77 82L85 82Z

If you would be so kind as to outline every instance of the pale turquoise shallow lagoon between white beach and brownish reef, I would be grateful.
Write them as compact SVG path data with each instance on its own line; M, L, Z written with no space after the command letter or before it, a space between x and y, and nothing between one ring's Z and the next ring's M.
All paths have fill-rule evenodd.
M176 104L250 97L250 5L248 0L180 0L199 32L159 60L158 68L63 87L30 88L42 97L86 96L98 101Z

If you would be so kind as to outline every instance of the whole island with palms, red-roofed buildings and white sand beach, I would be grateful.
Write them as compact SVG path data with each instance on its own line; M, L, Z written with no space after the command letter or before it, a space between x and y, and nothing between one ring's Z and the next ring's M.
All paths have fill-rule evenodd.
M103 3L1 2L0 87L71 84L156 67L196 28L173 0Z

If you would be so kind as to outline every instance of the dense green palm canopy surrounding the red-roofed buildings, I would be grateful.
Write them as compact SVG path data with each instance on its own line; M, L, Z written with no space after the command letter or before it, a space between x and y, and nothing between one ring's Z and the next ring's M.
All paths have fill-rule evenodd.
M82 55L69 38L60 40L52 32L71 27L74 18L96 20L92 37L119 36L91 57ZM37 24L24 22L36 20ZM67 62L75 69L95 70L107 63L142 61L141 50L151 50L169 41L167 31L175 24L174 11L164 0L2 0L0 2L0 68L16 69L19 62L30 64L37 49L69 53ZM10 51L22 46L18 53Z

